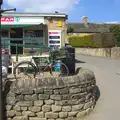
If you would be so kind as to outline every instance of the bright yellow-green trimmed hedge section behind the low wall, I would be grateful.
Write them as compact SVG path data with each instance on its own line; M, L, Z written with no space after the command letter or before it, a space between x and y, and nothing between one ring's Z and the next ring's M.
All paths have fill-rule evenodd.
M97 44L93 41L92 35L71 36L69 37L69 43L73 47L98 47Z

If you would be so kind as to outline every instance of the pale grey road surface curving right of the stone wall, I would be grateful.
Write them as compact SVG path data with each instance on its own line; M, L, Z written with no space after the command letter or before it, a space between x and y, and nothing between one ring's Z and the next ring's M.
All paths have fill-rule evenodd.
M85 120L120 120L120 60L90 56L76 59L81 61L76 67L94 72L100 89L96 107Z

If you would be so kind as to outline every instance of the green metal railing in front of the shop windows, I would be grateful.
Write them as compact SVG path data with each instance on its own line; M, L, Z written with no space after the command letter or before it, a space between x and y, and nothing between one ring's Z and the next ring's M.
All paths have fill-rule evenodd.
M11 41L13 43L11 43ZM19 41L22 41L20 44ZM2 38L2 48L9 49L15 47L16 50L16 61L18 61L18 47L22 48L37 48L39 54L42 55L44 49L48 49L46 45L38 38Z

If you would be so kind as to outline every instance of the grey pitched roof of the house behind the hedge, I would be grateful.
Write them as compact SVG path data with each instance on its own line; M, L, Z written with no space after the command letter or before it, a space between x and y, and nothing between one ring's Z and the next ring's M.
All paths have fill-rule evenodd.
M88 23L88 27L84 23L68 23L67 26L73 28L74 33L100 33L110 32L110 26L113 24L106 23Z

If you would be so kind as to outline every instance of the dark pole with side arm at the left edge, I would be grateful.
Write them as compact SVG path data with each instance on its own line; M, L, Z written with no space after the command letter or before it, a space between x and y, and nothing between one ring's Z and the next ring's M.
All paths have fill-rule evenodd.
M1 43L1 17L2 13L5 11L16 11L14 9L2 9L3 0L0 0L0 120L4 120L4 97L3 97L3 85L2 85L2 43Z

